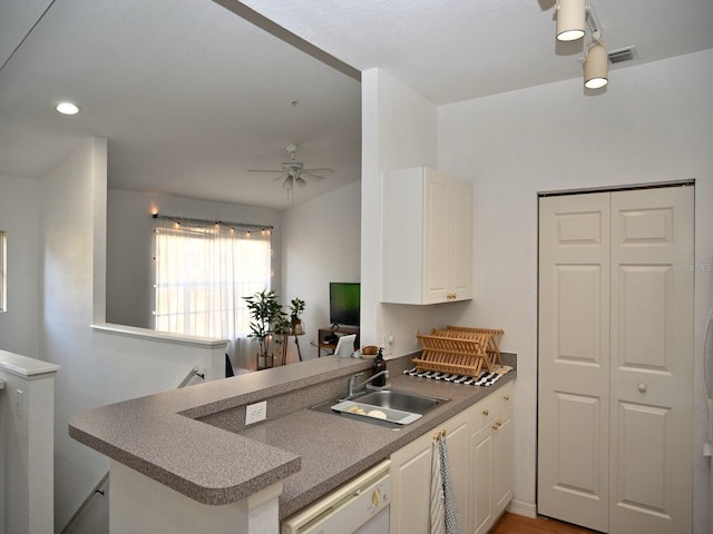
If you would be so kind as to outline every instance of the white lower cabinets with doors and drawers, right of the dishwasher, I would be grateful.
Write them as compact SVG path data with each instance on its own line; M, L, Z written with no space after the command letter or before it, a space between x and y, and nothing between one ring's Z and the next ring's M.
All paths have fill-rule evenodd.
M512 497L512 383L391 455L391 534L428 534L433 436L446 431L465 533L486 533Z

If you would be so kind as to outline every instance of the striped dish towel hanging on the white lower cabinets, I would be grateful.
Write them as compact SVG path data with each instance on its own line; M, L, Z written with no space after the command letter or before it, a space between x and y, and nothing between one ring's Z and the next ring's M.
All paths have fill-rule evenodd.
M431 456L431 534L441 533L462 533L445 435L433 441Z

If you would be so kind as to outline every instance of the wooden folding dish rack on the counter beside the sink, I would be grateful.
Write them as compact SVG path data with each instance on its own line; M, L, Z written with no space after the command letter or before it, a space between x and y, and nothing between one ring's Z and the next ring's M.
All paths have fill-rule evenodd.
M418 370L436 370L457 375L478 376L484 369L492 373L502 366L500 357L501 329L447 326L430 334L417 334L421 356L413 358Z

